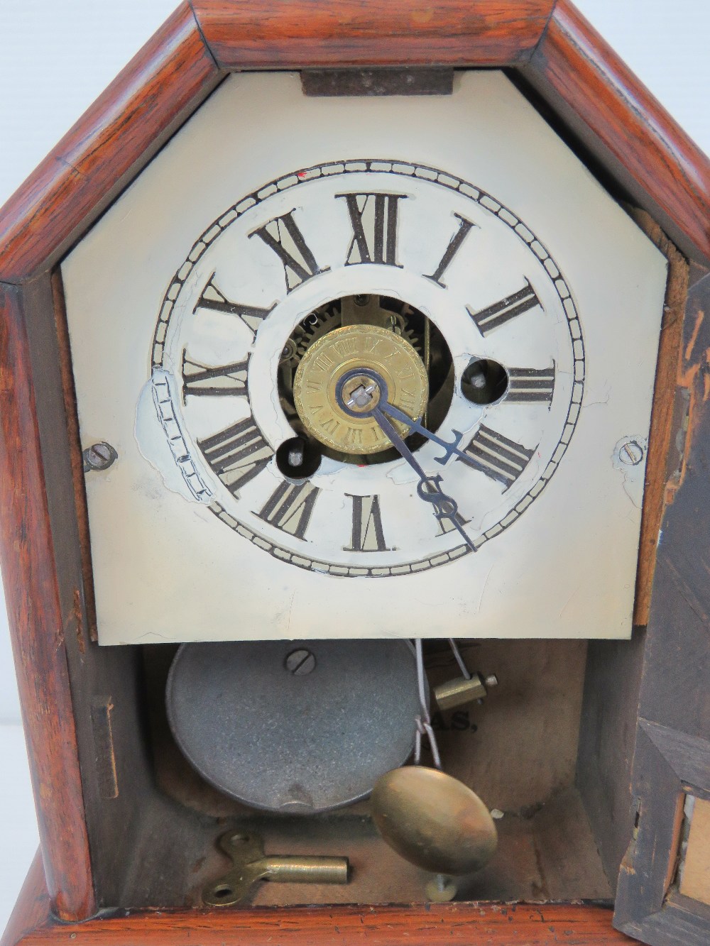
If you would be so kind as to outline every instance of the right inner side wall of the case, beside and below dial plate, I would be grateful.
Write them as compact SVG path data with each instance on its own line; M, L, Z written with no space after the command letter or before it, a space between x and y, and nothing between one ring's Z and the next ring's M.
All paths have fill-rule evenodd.
M607 876L618 875L633 828L630 769L638 715L646 625L659 531L683 468L687 387L681 359L689 267L645 211L631 216L668 259L648 462L639 542L634 628L630 641L590 640L579 730L577 788L595 834ZM680 440L679 440L680 438Z

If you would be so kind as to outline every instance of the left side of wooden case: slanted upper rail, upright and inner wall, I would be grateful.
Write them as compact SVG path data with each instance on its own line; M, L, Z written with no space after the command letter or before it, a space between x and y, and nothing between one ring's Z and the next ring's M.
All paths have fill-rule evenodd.
M135 835L157 825L140 654L92 641L81 447L52 267L223 76L182 4L0 211L0 557L46 885L66 921L121 902Z

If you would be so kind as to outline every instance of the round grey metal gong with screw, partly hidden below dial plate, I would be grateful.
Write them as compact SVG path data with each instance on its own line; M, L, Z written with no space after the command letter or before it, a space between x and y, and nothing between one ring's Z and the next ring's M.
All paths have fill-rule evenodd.
M420 712L405 640L183 644L167 704L205 780L255 808L300 814L369 795L409 757Z

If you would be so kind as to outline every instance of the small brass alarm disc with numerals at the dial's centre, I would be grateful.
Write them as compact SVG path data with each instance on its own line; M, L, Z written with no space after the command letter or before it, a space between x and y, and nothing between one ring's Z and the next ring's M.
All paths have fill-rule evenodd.
M362 369L362 376L358 369ZM293 402L311 436L343 453L379 453L392 446L369 412L353 416L338 403L342 378L349 376L346 385L354 392L366 384L368 371L385 381L390 403L413 419L421 417L429 382L414 347L396 332L377 325L346 325L314 342L295 373ZM402 424L395 426L406 436L408 431Z

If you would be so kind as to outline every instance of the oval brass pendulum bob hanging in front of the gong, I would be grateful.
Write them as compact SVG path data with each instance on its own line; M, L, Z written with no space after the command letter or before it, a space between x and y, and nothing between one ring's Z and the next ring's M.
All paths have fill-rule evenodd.
M488 808L463 782L409 765L386 772L371 798L382 839L410 864L458 876L479 870L498 845Z

